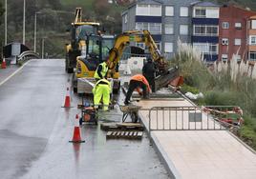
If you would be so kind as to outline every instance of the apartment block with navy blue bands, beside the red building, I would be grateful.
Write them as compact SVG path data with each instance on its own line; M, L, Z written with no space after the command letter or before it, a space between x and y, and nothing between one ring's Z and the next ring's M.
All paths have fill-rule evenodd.
M199 2L193 5L192 45L203 53L206 63L213 63L219 54L219 5Z

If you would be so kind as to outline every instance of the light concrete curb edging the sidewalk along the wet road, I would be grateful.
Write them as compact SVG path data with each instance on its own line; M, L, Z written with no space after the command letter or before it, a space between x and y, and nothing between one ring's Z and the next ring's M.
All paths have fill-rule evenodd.
M145 119L141 117L142 115L139 115L139 118L141 120L142 125L145 128L145 131L147 132L147 135L149 136L149 127L146 126ZM150 138L151 137L151 138ZM153 148L157 151L158 155L160 156L160 161L162 162L164 168L167 170L169 176L173 179L181 179L181 174L179 171L175 168L173 162L168 157L165 150L161 147L159 139L156 137L154 132L151 132L151 136L149 136L150 142L153 145Z

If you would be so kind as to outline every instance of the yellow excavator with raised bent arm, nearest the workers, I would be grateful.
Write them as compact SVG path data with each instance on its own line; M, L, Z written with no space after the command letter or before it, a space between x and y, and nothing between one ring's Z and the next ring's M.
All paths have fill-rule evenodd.
M95 84L94 74L96 72L96 67L99 64L96 60L96 56L99 55L99 50L105 51L110 49L111 43L104 43L104 41L96 42L96 36L88 36L87 50L86 54L83 56L77 56L76 58L76 72L75 72L75 90L77 93L91 93ZM102 37L101 37L102 38ZM91 43L90 43L91 42ZM101 43L100 43L101 42ZM160 55L160 50L158 49L153 37L148 30L131 30L125 31L117 35L115 44L109 50L108 54L108 77L112 79L113 82L113 92L116 93L120 88L118 64L120 57L122 55L125 47L130 46L131 42L145 43L148 48L151 58L157 66L157 77L156 77L156 89L160 89L168 83L170 80L178 76L177 67L169 67L167 61ZM100 47L101 45L101 47ZM106 53L104 53L106 54Z

